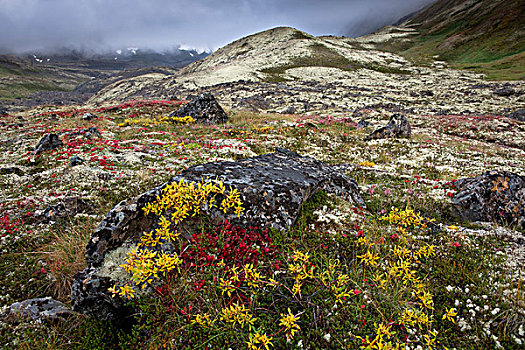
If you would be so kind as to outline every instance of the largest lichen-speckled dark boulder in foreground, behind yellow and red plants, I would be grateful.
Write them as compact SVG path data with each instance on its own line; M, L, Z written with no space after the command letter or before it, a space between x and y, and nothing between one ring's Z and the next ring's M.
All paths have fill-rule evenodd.
M119 264L140 240L142 232L156 227L158 218L144 215L142 209L169 183L200 182L207 177L218 178L226 187L237 189L245 208L240 217L225 215L216 208L203 208L212 223L217 224L227 219L242 227L285 230L295 223L303 203L321 190L364 207L353 179L323 162L284 149L237 162L190 167L168 183L110 210L86 247L88 268L74 278L73 309L104 320L125 318L129 313L122 307L122 301L110 297L107 289L127 278L119 272L122 270ZM174 248L167 244L161 249L169 252Z

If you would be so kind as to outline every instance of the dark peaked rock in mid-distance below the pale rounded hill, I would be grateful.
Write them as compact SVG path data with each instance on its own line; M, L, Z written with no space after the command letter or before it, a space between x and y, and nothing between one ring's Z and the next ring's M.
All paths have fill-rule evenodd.
M188 102L170 116L190 116L202 124L221 124L228 121L228 115L211 94L202 94Z

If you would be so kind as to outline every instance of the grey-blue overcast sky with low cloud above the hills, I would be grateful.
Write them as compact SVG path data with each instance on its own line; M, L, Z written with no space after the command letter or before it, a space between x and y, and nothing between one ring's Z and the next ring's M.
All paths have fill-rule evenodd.
M215 50L275 26L361 35L433 0L0 0L0 51Z

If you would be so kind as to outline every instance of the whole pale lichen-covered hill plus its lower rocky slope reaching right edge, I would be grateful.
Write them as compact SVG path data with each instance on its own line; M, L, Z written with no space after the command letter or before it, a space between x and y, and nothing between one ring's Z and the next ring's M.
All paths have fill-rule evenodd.
M442 60L422 66L375 49L413 32L396 29L351 39L274 28L234 41L174 74L118 80L89 103L186 100L212 92L228 108L285 113L344 113L383 104L429 114L506 114L509 106L514 110L524 104L519 82L487 84L481 75L451 69ZM501 89L508 94L497 92Z

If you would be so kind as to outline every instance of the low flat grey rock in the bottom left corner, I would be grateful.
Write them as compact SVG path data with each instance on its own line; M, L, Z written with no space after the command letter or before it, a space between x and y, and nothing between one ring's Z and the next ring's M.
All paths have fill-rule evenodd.
M65 321L75 314L71 308L51 297L17 302L9 306L6 312L8 320L31 318L41 321Z

